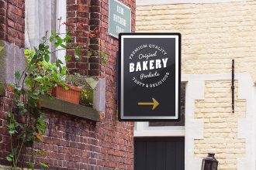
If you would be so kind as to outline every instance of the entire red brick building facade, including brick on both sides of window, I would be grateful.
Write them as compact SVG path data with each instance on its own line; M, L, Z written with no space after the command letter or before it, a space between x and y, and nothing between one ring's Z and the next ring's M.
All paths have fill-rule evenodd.
M47 163L50 169L133 169L133 123L117 121L116 106L116 56L118 39L108 35L108 0L67 0L67 26L75 28L74 45L81 49L81 60L72 58L67 63L70 70L85 76L106 80L106 111L100 112L100 121L91 121L45 109L47 134L43 143L35 148L46 151L39 162ZM131 8L132 31L135 29L135 1L123 1ZM0 0L0 81L5 91L0 93L0 168L8 166L5 157L9 152L9 134L6 115L12 92L6 83L14 82L16 70L22 70L25 47L24 0ZM62 16L63 17L63 16ZM82 23L83 27L78 28ZM85 32L99 29L95 37ZM106 65L99 56L88 58L88 46L104 51L109 57ZM74 50L67 50L73 55ZM18 64L19 63L19 64ZM22 162L28 155L24 153Z

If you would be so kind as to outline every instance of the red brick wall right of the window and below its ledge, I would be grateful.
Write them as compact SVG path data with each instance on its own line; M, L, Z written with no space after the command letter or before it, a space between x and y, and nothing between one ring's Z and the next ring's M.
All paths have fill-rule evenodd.
M1 0L0 0L1 1ZM77 3L75 3L77 2ZM123 1L132 9L132 30L135 28L135 1ZM78 27L82 22L83 27ZM67 25L73 26L75 46L81 49L81 61L74 59L74 50L67 53L73 55L67 66L72 71L84 75L106 78L106 112L101 113L101 122L93 122L69 114L53 110L47 113L47 134L43 143L35 148L46 151L45 157L38 162L50 165L50 169L133 169L133 123L117 121L116 105L116 56L118 39L109 36L108 0L67 0ZM100 32L89 37L88 29ZM88 46L102 50L108 54L108 63L102 65L100 56L87 57ZM11 93L6 91L0 97L0 164L9 151L9 135L5 117L9 108ZM22 162L28 160L22 156Z

